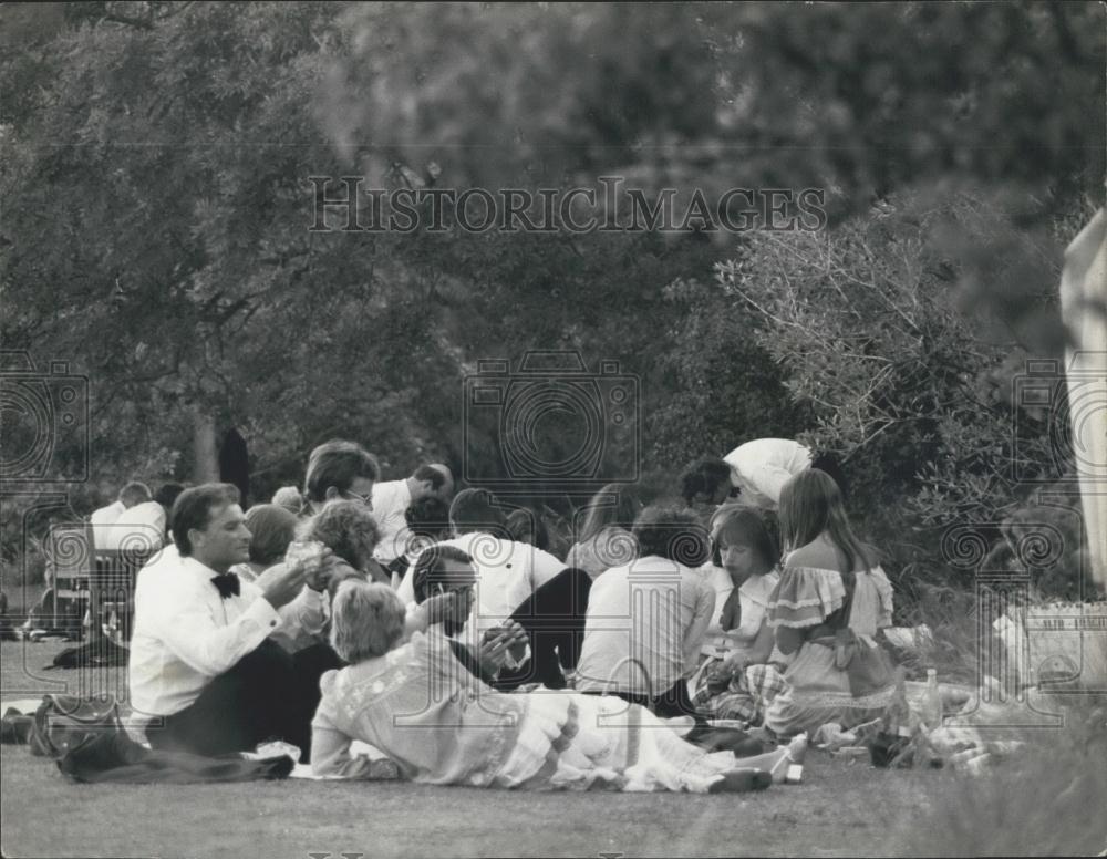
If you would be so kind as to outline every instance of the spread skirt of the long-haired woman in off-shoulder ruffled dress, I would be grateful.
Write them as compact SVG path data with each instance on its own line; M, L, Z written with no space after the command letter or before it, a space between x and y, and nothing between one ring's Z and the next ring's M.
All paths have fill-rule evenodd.
M863 697L849 691L849 676L834 661L834 649L806 642L784 672L787 687L765 710L765 727L777 736L814 734L837 722L852 727L879 716L891 704L896 686L889 684Z

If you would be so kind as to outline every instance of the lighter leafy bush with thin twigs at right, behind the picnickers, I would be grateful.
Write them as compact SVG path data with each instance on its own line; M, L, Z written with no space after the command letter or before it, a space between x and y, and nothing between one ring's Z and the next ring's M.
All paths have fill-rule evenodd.
M1058 462L1052 415L1012 395L1032 355L1018 332L987 309L963 312L960 301L971 260L948 236L986 246L1012 230L994 200L904 195L825 235L757 234L716 267L722 291L754 315L757 344L810 415L799 437L845 463L853 511L901 579L964 587L972 565L951 562L951 529L982 535L979 563L1039 482L1070 469ZM1038 240L1023 255L1059 260L1048 236ZM1036 281L1046 324L1056 322L1045 290L1058 273ZM1078 532L1067 547L1078 549ZM1057 560L1042 582L1064 597L1080 587L1080 563Z

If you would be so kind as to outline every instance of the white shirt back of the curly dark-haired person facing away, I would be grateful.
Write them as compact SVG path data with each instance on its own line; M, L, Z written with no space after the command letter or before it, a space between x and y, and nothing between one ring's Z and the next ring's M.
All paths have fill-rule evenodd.
M656 556L592 582L575 687L656 697L690 676L715 609L694 571Z

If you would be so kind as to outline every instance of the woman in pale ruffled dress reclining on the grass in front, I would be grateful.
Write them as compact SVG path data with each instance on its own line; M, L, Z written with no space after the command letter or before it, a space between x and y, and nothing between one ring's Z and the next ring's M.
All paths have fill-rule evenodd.
M476 578L472 563L449 559L434 572L432 587L455 590L462 579ZM458 619L464 610L459 602ZM489 633L476 656L486 669L516 641L510 628ZM318 775L369 775L370 760L350 755L359 739L386 754L404 777L425 784L718 793L772 782L765 769L686 743L648 710L615 697L493 690L462 664L444 631L405 640L404 607L383 584L349 580L339 587L331 641L350 664L320 683L312 723ZM762 756L758 764L776 757Z

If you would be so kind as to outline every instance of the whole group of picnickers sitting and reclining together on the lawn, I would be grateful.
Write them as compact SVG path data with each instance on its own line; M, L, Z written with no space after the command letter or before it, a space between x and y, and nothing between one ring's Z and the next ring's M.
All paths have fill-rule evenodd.
M186 489L137 578L132 706L155 748L279 738L327 776L373 772L360 741L431 784L766 787L790 738L894 692L841 664L891 588L838 484L796 459L784 479L704 460L687 505L604 487L563 560L531 511L454 495L443 465L381 482L353 442L245 513L227 484Z

